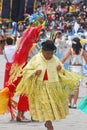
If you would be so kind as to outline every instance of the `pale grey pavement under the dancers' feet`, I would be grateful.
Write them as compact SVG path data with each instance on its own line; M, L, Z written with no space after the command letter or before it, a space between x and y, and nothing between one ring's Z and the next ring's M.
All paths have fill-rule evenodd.
M5 59L3 55L0 55L0 89L3 87L4 68ZM86 81L87 77L85 77L81 83L78 103L87 94L87 86L85 85ZM30 119L29 112L26 112L25 116ZM86 130L87 115L78 109L69 109L69 115L66 119L55 121L53 122L53 125L54 130ZM10 115L5 113L0 115L0 130L46 130L46 128L44 127L44 122L11 122Z

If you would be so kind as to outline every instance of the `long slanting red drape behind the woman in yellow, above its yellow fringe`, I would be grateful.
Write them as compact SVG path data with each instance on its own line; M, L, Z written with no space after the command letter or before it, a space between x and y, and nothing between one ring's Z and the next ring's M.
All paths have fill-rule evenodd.
M27 61L27 57L33 44L37 42L42 26L29 27L25 30L14 57L13 63L18 65Z

